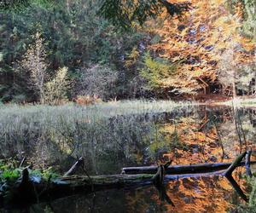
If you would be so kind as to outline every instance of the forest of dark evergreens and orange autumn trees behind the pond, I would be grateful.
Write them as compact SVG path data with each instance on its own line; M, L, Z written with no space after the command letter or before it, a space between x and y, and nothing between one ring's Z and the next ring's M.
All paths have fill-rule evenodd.
M193 0L172 15L135 5L125 22L102 2L32 1L2 11L1 101L255 94L255 1Z

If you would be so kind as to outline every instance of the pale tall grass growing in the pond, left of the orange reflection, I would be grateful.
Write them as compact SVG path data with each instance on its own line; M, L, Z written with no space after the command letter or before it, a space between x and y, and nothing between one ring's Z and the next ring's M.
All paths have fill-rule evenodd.
M161 140L157 138L160 136L155 120L161 119L161 112L183 106L172 101L113 101L90 106L2 105L1 157L25 152L40 167L76 155L84 156L95 167L97 159L107 156L101 164L111 161L109 156L113 161L120 156L127 161L142 161L147 144Z

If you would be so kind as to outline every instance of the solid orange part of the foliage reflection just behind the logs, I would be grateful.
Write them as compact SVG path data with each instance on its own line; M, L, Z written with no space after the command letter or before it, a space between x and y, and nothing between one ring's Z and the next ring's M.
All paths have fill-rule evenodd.
M165 157L175 156L177 164L197 164L208 161L217 161L221 156L221 147L218 145L217 132L214 126L202 128L206 118L180 118L177 124L167 124L161 129L165 141L170 144L170 153ZM178 140L178 141L177 141Z

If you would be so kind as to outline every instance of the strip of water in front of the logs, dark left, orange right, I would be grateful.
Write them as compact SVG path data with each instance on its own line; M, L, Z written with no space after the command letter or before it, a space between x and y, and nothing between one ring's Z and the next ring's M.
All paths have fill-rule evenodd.
M79 194L33 205L30 212L226 212L232 208L230 200L239 201L236 193L230 193L229 182L219 176L172 181L166 191L175 206L161 201L152 186Z

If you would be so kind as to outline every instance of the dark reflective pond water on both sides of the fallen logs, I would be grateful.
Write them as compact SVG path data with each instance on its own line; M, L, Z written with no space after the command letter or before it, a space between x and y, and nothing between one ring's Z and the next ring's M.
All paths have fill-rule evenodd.
M1 157L25 152L35 167L52 166L64 173L76 161L76 156L83 156L90 175L107 175L119 174L122 167L168 160L172 160L172 164L232 162L247 148L255 149L256 110L253 108L177 107L170 112L76 119L62 119L61 124L53 123L50 130L36 120L31 127L31 121L24 121L28 133L25 128L22 135L18 135L20 141L12 141L12 144L5 139L0 144ZM5 137L11 138L8 134ZM83 174L82 170L79 172ZM236 181L248 192L243 175L242 168L236 169ZM174 206L161 200L154 186L148 186L78 194L34 204L26 211L229 212L243 202L222 176L171 181L166 184L166 193Z

